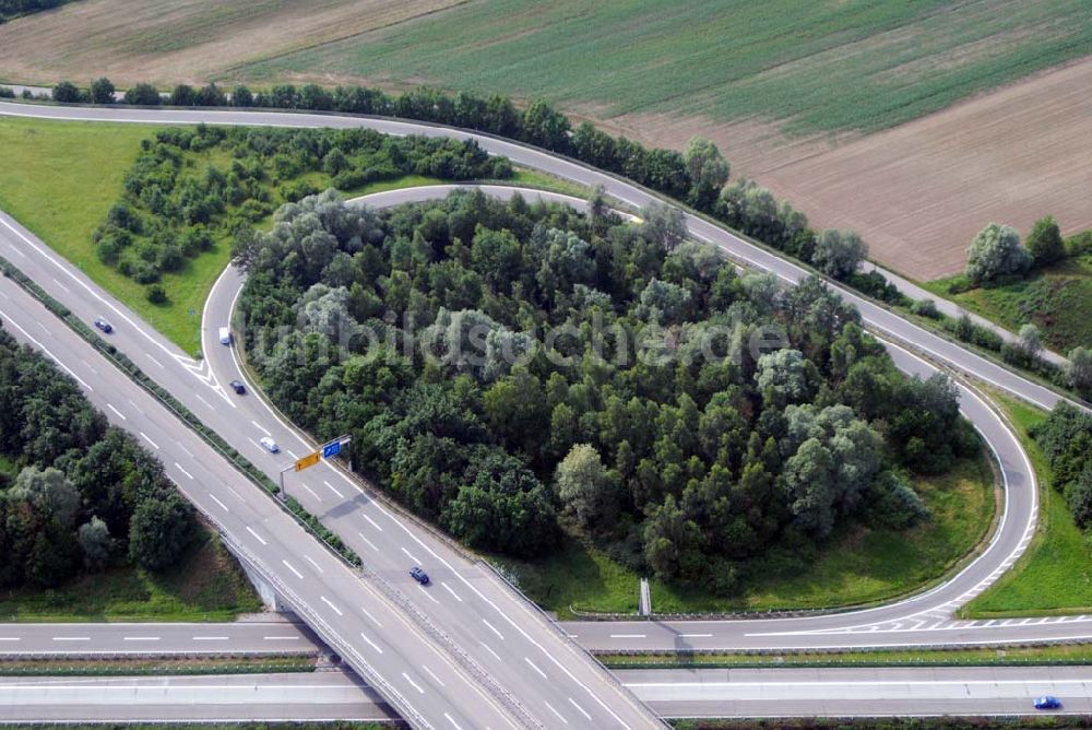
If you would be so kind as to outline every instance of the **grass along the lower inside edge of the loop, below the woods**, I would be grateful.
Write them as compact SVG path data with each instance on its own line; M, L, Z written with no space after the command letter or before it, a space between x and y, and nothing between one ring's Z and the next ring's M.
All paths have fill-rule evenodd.
M863 527L836 534L806 575L756 577L725 599L652 581L657 613L721 613L855 605L891 599L939 579L988 532L994 480L985 457L916 483L933 517L904 532ZM569 541L535 562L496 558L533 601L562 619L573 609L636 613L639 576L600 551Z

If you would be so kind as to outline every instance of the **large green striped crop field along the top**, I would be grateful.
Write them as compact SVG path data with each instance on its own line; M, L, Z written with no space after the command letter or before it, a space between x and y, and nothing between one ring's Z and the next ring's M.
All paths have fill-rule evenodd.
M1087 0L478 0L227 70L870 131L1079 58Z

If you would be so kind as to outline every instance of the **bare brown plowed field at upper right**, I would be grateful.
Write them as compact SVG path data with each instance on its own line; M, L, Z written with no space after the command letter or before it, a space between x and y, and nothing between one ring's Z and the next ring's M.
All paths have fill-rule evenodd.
M919 280L960 271L990 221L1092 227L1092 59L757 177Z

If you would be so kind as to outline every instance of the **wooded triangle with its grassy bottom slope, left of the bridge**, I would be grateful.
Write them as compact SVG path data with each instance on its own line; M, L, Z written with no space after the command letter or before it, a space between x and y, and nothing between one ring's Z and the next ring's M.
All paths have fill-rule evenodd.
M0 393L0 616L260 608L163 466L3 330Z

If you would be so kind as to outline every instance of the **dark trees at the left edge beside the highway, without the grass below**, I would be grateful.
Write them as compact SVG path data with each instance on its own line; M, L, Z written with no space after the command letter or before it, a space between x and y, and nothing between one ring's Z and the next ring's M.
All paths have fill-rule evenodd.
M79 387L0 331L0 587L55 586L129 560L159 569L193 534L163 466Z

